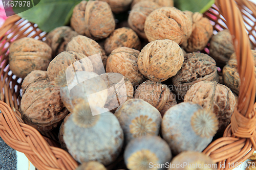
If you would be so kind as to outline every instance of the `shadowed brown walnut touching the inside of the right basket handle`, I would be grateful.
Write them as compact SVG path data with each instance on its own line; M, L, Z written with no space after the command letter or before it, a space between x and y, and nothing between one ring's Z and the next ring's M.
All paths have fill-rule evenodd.
M229 30L223 30L214 35L210 40L210 56L217 63L226 64L230 56L234 53L232 36Z

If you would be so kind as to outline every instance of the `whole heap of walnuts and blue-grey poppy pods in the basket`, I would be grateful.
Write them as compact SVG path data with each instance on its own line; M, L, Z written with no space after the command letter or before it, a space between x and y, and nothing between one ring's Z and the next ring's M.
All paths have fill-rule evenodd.
M45 42L10 44L10 69L24 79L20 113L39 132L59 131L78 169L105 169L120 153L128 169L200 155L223 135L239 94L231 37L172 0L81 1Z

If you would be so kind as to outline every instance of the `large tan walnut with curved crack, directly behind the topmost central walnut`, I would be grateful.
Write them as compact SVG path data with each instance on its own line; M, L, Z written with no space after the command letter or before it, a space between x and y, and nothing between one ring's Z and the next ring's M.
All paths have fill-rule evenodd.
M144 31L148 41L170 39L182 44L191 35L192 21L175 7L162 7L146 17Z

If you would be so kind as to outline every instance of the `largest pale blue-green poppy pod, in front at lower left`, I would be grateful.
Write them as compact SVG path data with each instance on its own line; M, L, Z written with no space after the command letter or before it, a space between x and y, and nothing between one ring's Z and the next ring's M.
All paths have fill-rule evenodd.
M123 145L123 131L116 116L104 108L77 105L64 127L63 139L78 162L115 161Z

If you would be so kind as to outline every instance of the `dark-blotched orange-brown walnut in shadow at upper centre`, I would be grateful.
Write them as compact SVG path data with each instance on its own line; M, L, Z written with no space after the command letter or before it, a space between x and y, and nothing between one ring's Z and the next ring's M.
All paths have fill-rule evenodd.
M116 29L113 33L111 33L110 37L105 40L104 49L106 54L109 55L113 50L121 46L140 50L140 39L130 28L123 27Z

